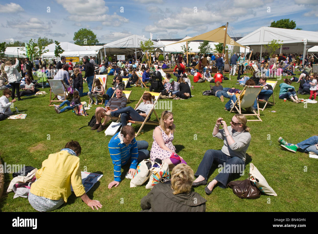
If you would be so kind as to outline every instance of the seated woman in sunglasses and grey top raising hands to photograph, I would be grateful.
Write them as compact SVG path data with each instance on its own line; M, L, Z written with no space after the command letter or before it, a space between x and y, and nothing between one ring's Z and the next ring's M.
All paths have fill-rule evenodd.
M218 118L213 128L213 137L224 140L224 145L222 150L208 150L205 152L195 174L197 179L193 182L193 186L207 184L208 174L213 162L222 165L223 169L205 187L207 195L212 193L216 185L226 188L231 174L244 172L246 151L251 142L250 128L246 126L246 122L246 117L242 114L236 114L232 117L231 126L227 126L223 118ZM223 129L220 129L221 124ZM228 168L231 168L230 172Z

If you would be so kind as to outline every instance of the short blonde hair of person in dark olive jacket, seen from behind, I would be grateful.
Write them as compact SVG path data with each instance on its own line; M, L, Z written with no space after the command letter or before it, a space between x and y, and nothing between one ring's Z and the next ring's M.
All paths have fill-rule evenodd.
M192 182L194 181L193 170L190 166L181 163L173 168L171 173L171 188L173 194L190 193Z

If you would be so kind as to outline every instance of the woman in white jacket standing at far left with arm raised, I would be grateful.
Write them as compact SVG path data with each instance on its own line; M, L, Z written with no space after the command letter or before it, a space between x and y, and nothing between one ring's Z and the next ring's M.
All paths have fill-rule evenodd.
M17 70L19 66L19 60L16 58L16 63L12 65L10 61L5 62L4 71L7 73L8 82L12 87L12 100L14 99L14 93L17 92L18 101L22 101L20 98L20 80L21 76ZM17 91L16 91L17 90Z

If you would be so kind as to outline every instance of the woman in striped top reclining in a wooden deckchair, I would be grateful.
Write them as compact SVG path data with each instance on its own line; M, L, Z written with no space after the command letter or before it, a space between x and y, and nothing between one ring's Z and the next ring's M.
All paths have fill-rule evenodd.
M154 105L154 99L155 96L152 96L150 93L145 93L142 96L143 102L139 104L136 110L134 110L131 106L127 106L116 111L107 111L106 116L114 117L121 114L120 118L122 127L127 125L128 120L143 122Z

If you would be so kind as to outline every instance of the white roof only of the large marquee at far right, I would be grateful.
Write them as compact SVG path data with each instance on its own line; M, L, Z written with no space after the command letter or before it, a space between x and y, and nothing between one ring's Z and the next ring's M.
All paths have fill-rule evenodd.
M283 41L283 44L304 42L304 39L307 39L308 44L312 45L318 44L318 32L261 27L239 39L237 42L244 46L267 45L273 39Z

